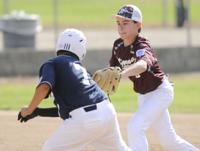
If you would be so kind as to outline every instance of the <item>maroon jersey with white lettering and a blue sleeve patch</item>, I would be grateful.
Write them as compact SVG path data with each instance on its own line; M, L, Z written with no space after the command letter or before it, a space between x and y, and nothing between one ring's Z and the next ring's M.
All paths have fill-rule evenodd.
M129 78L134 84L134 90L137 93L145 94L155 90L162 83L164 77L164 72L159 67L150 42L141 36L137 36L136 40L127 47L124 46L122 39L114 42L110 66L119 66L123 70L139 60L147 62L147 70L138 76Z

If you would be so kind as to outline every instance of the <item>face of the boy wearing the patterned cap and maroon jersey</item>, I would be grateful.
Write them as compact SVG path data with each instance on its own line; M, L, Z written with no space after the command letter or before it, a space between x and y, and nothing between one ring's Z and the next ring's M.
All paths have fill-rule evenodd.
M141 23L134 23L122 17L116 17L118 33L123 40L131 40L138 35L138 29L141 28Z

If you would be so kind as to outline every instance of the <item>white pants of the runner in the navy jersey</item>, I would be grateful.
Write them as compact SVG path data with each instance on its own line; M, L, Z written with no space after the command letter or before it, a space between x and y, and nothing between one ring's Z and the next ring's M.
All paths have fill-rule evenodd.
M95 151L130 151L123 141L116 112L108 101L97 104L97 109L85 112L83 108L70 113L43 146L43 151L84 151L92 146Z

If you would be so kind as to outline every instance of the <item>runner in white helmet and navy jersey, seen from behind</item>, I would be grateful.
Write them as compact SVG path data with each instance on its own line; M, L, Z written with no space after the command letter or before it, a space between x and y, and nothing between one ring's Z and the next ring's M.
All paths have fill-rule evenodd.
M122 140L113 105L81 65L85 44L86 38L79 30L66 29L60 34L57 56L41 66L33 99L21 109L18 119L25 122L40 115L64 120L43 151L82 151L88 145L96 151L130 151ZM37 108L50 92L57 107Z

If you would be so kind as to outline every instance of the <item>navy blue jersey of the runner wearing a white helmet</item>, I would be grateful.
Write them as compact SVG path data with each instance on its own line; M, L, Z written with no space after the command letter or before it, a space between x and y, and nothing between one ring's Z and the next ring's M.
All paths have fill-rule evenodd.
M79 107L107 99L86 69L74 57L61 55L40 68L40 82L51 87L61 118Z

